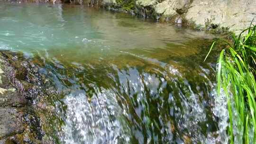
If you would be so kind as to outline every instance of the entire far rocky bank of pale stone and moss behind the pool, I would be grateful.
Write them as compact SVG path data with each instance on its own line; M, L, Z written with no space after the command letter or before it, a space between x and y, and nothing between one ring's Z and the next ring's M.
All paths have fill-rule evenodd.
M7 0L13 1L13 0ZM256 19L256 0L14 0L83 4L213 33L238 34ZM256 21L256 20L255 20Z

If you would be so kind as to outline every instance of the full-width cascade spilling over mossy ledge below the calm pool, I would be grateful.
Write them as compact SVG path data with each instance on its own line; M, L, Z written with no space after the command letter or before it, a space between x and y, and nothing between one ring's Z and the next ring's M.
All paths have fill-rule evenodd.
M216 97L209 79L214 67L199 66L198 72L182 73L166 63L145 63L143 69L118 68L113 63L44 66L55 73L50 78L58 77L55 83L68 86L60 90L64 98L56 102L58 117L64 120L61 142L228 142L225 95Z

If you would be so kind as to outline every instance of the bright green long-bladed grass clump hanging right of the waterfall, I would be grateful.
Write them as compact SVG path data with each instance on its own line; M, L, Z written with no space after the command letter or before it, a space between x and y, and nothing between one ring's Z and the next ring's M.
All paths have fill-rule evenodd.
M256 26L232 41L219 55L217 93L227 96L230 144L256 144Z

